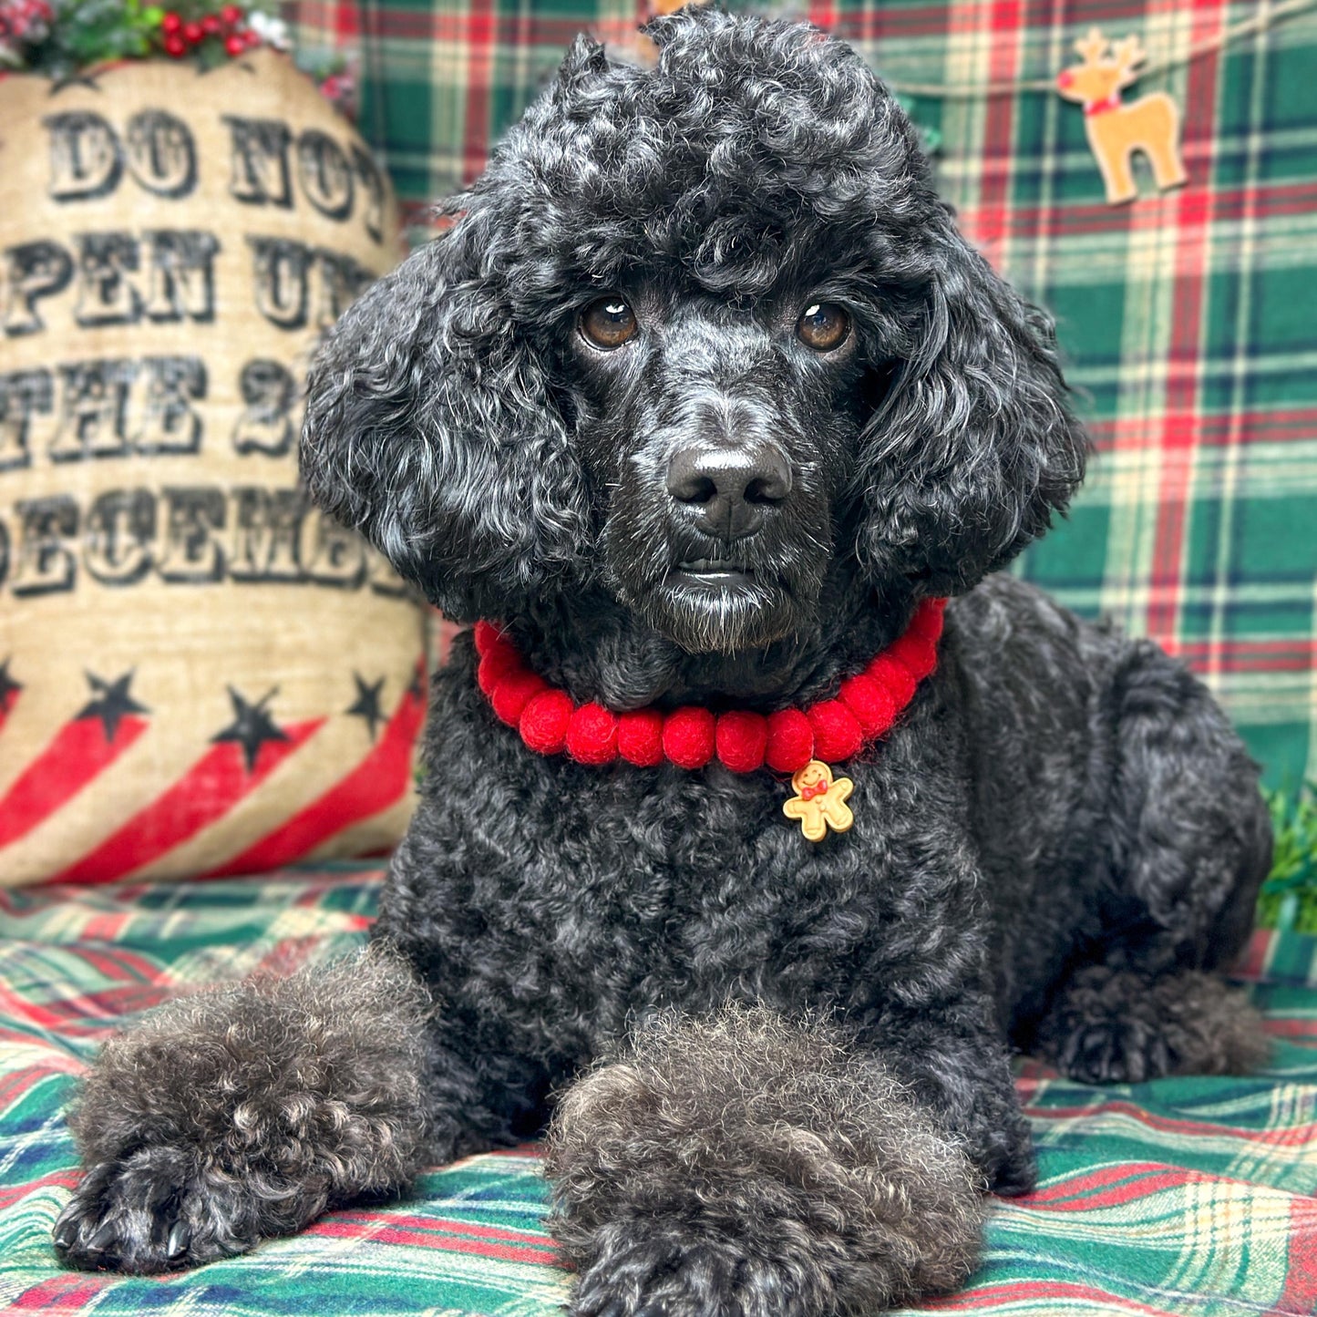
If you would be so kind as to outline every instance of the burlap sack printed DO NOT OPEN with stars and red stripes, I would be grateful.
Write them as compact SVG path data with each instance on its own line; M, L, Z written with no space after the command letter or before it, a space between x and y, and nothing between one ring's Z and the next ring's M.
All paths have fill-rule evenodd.
M421 614L294 441L311 344L395 254L273 51L0 82L0 881L400 835Z

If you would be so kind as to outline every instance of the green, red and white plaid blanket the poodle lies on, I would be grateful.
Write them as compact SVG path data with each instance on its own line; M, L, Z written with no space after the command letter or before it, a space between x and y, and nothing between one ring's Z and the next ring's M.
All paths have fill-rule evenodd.
M378 872L0 892L0 1309L161 1317L551 1317L569 1276L535 1148L470 1158L404 1201L163 1279L59 1270L76 1180L61 1109L107 1033L179 985L290 969L365 936ZM1025 1063L1040 1183L997 1201L984 1263L928 1310L1256 1317L1317 1309L1317 940L1259 934L1250 1079L1096 1089Z

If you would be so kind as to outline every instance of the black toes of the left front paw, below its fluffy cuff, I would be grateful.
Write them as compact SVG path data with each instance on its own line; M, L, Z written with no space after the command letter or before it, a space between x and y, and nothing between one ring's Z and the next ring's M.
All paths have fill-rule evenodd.
M174 1148L141 1148L87 1172L53 1238L67 1267L149 1274L250 1249L259 1235L244 1216L234 1187Z

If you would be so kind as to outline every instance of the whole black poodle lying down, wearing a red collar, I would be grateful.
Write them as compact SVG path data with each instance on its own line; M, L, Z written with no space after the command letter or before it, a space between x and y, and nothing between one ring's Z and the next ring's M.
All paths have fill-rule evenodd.
M1156 645L988 576L1084 470L1047 320L847 46L649 32L653 67L578 41L319 356L313 497L483 657L436 677L373 950L105 1047L72 1266L234 1254L549 1121L574 1313L874 1310L1033 1185L1011 1047L1260 1055L1210 973L1255 766Z

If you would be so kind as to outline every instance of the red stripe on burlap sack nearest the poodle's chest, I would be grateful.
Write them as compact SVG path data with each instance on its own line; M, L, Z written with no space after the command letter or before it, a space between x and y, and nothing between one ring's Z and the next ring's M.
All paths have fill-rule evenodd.
M200 876L259 873L290 864L353 823L396 805L411 784L412 744L424 715L424 698L406 691L379 744L346 777L254 846Z

